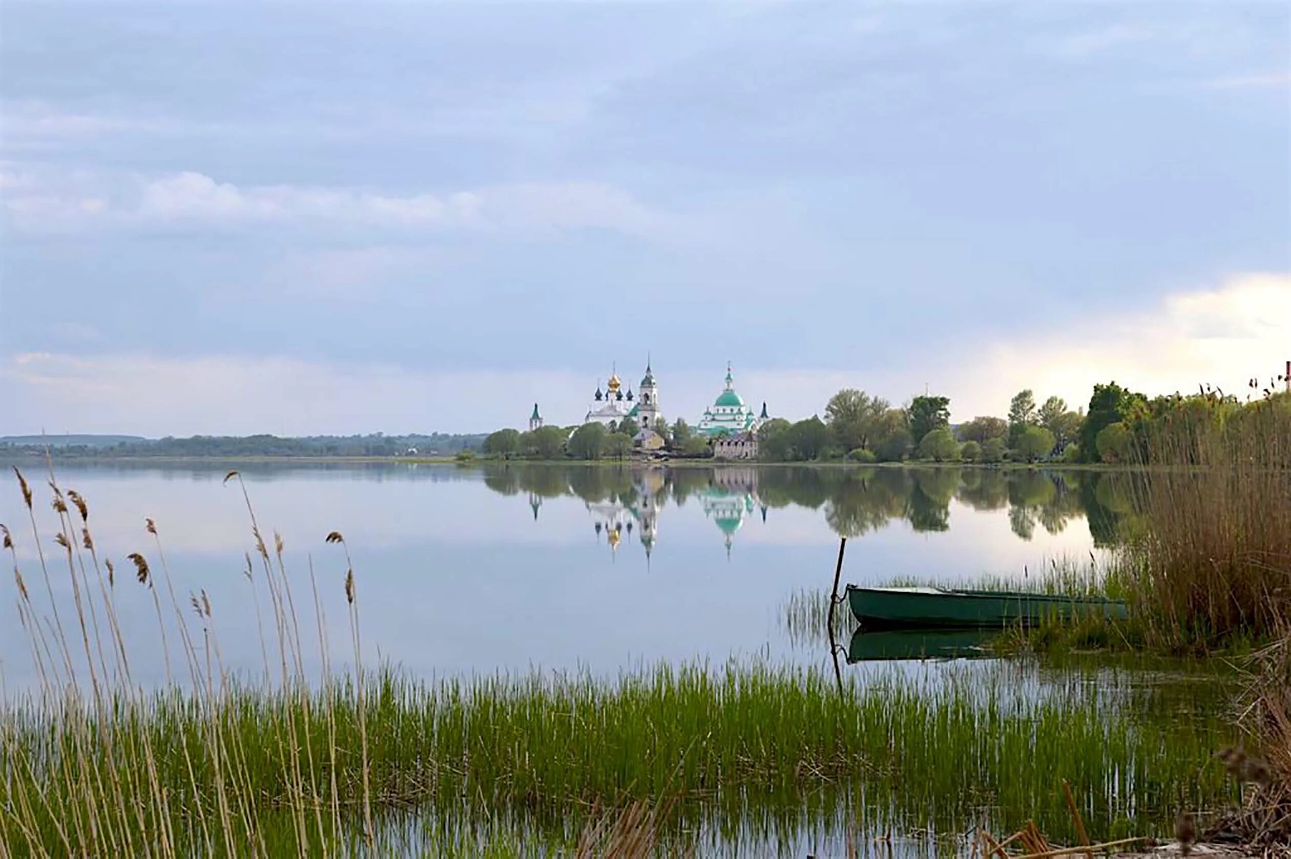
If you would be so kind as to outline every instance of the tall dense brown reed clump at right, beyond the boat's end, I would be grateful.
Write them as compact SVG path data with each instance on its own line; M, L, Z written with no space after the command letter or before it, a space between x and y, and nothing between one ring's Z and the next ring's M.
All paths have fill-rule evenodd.
M1118 571L1148 641L1273 638L1291 618L1291 395L1193 397L1150 424L1140 457L1144 526Z

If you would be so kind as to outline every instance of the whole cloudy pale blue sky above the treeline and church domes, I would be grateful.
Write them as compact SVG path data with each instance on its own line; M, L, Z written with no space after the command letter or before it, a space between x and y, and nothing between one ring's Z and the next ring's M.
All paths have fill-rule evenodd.
M0 435L1291 360L1285 3L0 4Z

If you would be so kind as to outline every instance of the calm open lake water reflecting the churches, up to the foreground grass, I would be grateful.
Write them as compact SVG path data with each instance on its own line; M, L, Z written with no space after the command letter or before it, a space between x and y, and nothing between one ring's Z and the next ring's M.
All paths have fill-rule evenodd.
M613 675L656 660L760 655L821 662L791 640L784 605L828 588L838 537L844 580L1021 578L1052 560L1082 562L1115 528L1114 475L967 468L629 468L494 464L241 466L266 534L283 535L301 611L312 569L345 654L345 534L363 640L373 659L422 676L587 668ZM50 493L28 468L56 595L70 588L52 543ZM160 553L179 601L205 589L227 667L258 673L256 604L243 575L253 551L236 481L219 464L66 464L58 480L89 500L136 675L164 677L151 597L125 556ZM15 484L0 494L35 597L45 598ZM4 587L13 587L8 580ZM261 595L259 598L265 598ZM45 598L48 602L48 600ZM145 631L130 635L129 631ZM13 600L0 601L0 657L10 689L31 682ZM341 657L337 657L341 660Z

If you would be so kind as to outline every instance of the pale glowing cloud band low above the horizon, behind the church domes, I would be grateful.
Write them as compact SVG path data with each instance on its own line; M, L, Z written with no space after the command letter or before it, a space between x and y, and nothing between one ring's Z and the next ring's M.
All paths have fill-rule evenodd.
M924 351L900 369L744 369L737 388L773 414L824 413L839 388L859 387L895 405L923 392L951 400L955 420L1003 414L1022 388L1038 399L1088 401L1096 382L1117 380L1149 395L1199 383L1245 395L1251 377L1276 374L1291 359L1291 275L1250 273L1208 290L1177 293L1119 321L1053 320L1006 342L964 339ZM750 360L753 356L750 356ZM670 419L697 418L720 391L723 366L671 371L656 355ZM14 406L0 432L133 432L139 435L278 435L487 431L519 426L533 401L556 423L582 418L604 368L513 371L426 370L389 364L312 362L289 357L34 352L0 364ZM633 380L634 374L625 378Z

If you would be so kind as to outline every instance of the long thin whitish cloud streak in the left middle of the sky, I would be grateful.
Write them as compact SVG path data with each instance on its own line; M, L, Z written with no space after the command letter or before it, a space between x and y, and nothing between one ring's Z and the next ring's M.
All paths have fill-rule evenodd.
M550 235L602 228L636 237L684 235L622 188L599 182L524 182L444 193L345 187L239 186L198 172L63 179L6 170L6 218L27 233L92 230L365 227L417 233L467 230Z

